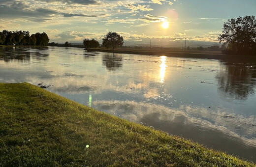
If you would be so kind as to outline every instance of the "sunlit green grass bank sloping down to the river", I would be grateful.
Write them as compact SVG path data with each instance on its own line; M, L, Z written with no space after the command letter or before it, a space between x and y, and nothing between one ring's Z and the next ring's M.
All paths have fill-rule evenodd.
M96 111L29 83L0 83L0 166L255 164Z

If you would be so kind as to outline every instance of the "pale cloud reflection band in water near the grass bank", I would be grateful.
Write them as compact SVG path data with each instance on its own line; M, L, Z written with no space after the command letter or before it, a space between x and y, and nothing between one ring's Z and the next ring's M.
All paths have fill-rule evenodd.
M220 131L231 138L256 147L256 126L254 126L256 118L254 116L232 115L236 118L224 118L223 116L228 114L224 111L210 111L192 106L182 106L178 110L173 110L162 105L135 101L95 101L93 105L97 110L107 109L112 114L137 123L143 117L154 113L158 114L158 121L175 122L183 117L183 123L186 126Z

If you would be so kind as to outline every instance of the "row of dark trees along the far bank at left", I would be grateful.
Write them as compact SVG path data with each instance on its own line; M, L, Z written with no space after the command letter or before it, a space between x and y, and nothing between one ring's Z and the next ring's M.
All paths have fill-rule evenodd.
M43 32L36 32L30 35L29 31L8 31L0 32L0 45L36 45L47 46L49 42L48 35Z

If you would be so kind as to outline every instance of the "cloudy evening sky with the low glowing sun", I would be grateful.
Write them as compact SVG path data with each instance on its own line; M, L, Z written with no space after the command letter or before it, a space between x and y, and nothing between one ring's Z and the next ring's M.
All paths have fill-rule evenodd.
M46 32L56 43L101 43L115 31L127 46L207 45L219 42L224 22L246 15L256 15L256 0L0 0L0 31Z

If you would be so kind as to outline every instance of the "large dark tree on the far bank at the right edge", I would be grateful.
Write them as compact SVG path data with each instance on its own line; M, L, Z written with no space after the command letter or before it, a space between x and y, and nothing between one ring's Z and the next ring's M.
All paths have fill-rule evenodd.
M255 16L229 19L224 23L222 32L218 39L233 54L256 54Z

